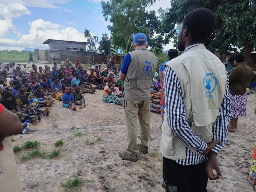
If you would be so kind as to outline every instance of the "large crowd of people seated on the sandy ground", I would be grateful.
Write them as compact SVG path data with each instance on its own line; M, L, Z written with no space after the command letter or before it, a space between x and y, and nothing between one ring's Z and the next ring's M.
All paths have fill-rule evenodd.
M77 62L75 67L65 62L52 70L32 64L29 71L26 64L10 63L1 65L0 103L15 113L25 127L40 121L43 115L50 115L50 107L56 100L63 102L63 107L77 110L85 108L84 93L95 93L103 89L103 102L122 105L122 82L119 79L121 67L109 66L101 71L101 65L93 65L88 74ZM1 70L1 69L0 69ZM152 111L159 113L159 81L152 85ZM54 98L54 99L53 99ZM56 100L55 100L56 99ZM43 107L43 108L42 108Z

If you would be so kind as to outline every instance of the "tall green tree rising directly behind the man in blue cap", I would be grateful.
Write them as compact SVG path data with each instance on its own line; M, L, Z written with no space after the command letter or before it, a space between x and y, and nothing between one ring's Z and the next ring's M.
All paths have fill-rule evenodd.
M101 1L105 20L112 23L108 26L111 32L113 45L125 52L129 52L132 36L144 32L149 37L151 46L159 46L161 36L154 36L159 28L160 21L154 11L145 11L156 0L108 0ZM162 46L159 46L162 49Z

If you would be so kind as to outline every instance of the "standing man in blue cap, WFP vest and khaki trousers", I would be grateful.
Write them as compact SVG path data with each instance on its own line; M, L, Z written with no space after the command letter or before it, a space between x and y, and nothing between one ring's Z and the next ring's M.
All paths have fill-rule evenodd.
M120 80L124 82L124 112L126 117L128 147L119 152L123 160L137 161L138 151L147 153L150 136L150 85L156 71L158 58L147 50L147 36L137 33L132 43L135 51L125 55ZM137 145L137 119L141 139Z

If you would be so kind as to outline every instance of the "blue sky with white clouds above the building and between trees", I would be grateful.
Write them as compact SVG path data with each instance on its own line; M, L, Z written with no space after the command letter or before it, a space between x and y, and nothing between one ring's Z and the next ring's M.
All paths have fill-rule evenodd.
M147 10L168 6L170 0L158 0ZM107 25L100 0L0 0L0 50L46 48L46 39L86 41L85 28L100 38L110 34Z

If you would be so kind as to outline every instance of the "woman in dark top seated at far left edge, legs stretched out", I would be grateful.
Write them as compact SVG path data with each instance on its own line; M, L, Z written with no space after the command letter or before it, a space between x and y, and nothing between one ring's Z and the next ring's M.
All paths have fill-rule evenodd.
M3 97L1 98L0 103L3 104L6 109L17 115L22 123L29 120L34 124L38 120L38 116L26 114L19 109L18 104L15 102L15 97L13 96L13 90L9 86L3 88Z

